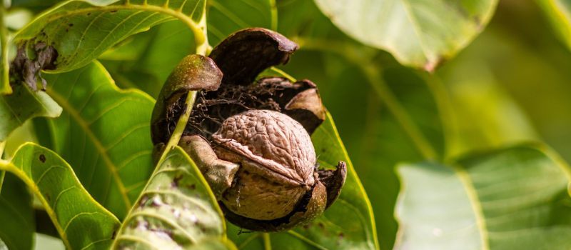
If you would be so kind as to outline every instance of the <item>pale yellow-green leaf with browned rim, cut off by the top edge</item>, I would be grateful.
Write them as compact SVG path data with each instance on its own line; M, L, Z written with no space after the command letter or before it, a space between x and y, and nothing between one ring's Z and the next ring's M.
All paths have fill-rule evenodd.
M315 0L346 34L433 71L482 31L497 0Z

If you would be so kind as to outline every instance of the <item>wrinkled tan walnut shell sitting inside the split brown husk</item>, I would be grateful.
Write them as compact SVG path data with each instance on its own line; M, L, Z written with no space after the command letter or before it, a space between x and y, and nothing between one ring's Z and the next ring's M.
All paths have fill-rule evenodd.
M290 116L246 111L226 119L212 139L218 158L241 164L236 184L221 200L236 214L281 218L315 184L315 149L303 126Z

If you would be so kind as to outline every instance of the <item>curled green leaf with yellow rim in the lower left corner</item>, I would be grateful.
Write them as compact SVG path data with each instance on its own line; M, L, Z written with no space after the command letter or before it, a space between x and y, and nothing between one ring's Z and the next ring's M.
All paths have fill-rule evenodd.
M68 249L107 249L119 221L84 189L69 164L53 151L24 144L0 169L26 183L48 212ZM14 229L14 228L12 228Z

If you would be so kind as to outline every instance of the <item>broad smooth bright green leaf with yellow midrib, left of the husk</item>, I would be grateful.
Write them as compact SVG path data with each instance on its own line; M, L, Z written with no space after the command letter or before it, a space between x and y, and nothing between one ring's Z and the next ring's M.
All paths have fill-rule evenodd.
M49 134L51 149L74 167L89 193L123 218L153 171L153 99L118 89L98 62L46 80L64 112L37 134Z

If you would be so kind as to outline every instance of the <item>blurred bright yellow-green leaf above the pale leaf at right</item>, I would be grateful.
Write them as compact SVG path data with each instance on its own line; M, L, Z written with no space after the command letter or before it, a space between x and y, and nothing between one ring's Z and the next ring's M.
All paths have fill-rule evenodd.
M454 126L447 134L449 156L539 140L525 112L485 61L459 56L438 75L450 94L447 108Z

